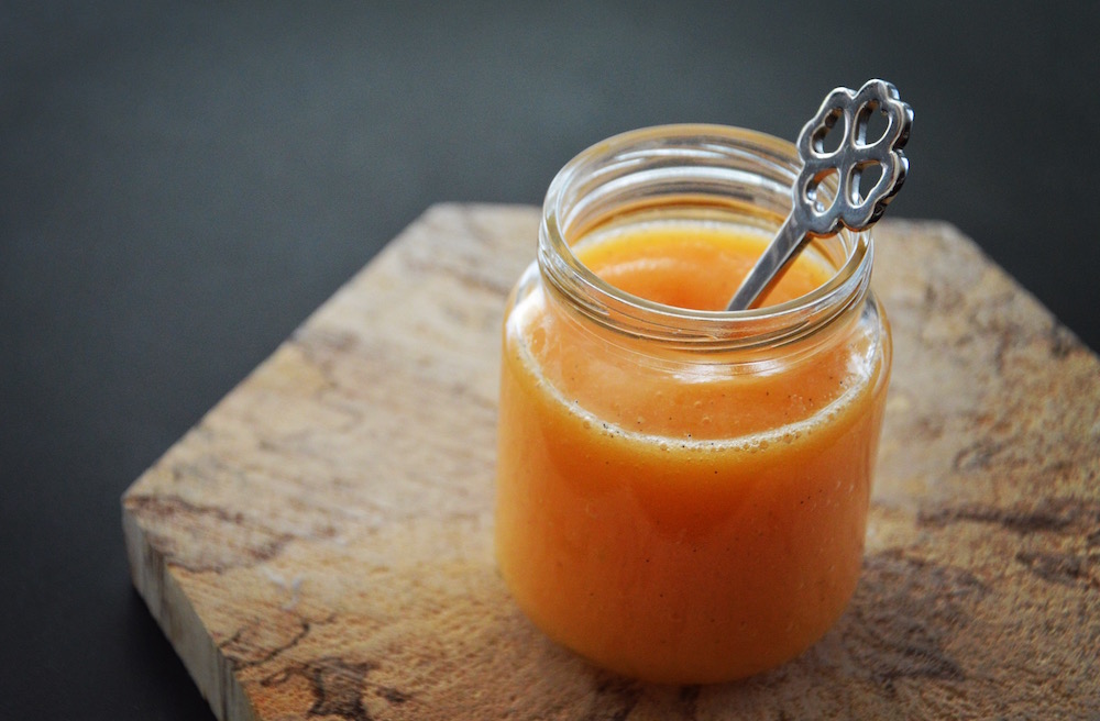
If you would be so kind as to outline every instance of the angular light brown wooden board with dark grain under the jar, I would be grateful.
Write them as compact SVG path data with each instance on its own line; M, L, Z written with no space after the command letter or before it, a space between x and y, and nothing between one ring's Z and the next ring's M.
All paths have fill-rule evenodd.
M1100 363L952 226L886 221L864 576L725 686L547 641L495 573L499 323L538 211L437 206L130 488L133 579L221 719L1100 716Z

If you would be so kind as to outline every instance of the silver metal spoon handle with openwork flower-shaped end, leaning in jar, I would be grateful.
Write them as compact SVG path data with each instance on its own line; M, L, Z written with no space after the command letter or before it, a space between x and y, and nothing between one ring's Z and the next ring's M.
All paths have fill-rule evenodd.
M881 137L868 138L867 125L875 113L886 118L887 129ZM838 121L840 126L834 129ZM807 237L835 235L842 225L854 231L873 225L905 180L909 160L901 148L912 125L913 109L884 80L869 80L857 92L836 88L828 93L821 110L799 134L803 166L791 189L791 214L745 277L727 310L752 307ZM842 140L836 149L826 151L825 136L831 131L839 132ZM879 166L879 178L865 196L859 188L860 177L875 165ZM836 197L825 206L817 189L834 174Z

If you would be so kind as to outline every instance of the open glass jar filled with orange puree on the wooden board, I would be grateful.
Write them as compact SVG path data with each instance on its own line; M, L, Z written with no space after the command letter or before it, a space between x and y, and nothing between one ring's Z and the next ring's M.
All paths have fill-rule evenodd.
M616 280L644 268L642 289L728 298L800 167L774 137L670 125L550 185L504 323L496 553L531 621L606 668L751 675L820 639L856 587L891 352L869 234L811 241L788 275L813 281L747 311ZM625 275L597 273L604 256Z

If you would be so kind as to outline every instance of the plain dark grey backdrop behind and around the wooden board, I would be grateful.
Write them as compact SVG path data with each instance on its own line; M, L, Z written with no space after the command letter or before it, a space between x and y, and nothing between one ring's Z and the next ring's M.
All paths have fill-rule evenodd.
M889 214L1100 347L1097 7L0 1L0 718L210 718L120 493L429 204L539 203L606 135L793 138L888 78Z

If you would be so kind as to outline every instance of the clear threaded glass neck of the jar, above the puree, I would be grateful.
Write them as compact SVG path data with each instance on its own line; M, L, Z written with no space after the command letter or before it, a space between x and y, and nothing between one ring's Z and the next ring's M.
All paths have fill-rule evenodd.
M778 231L801 163L794 145L722 125L664 125L624 133L582 152L550 184L538 263L552 295L606 330L675 350L777 347L816 335L861 308L870 284L868 233L813 239L835 270L810 293L765 308L703 311L653 302L602 280L572 246L595 231L653 219L713 219ZM823 184L825 185L825 184ZM828 202L835 187L823 189ZM806 251L804 251L806 252Z

